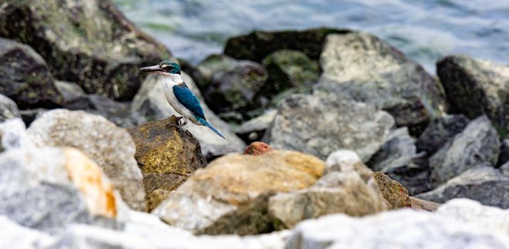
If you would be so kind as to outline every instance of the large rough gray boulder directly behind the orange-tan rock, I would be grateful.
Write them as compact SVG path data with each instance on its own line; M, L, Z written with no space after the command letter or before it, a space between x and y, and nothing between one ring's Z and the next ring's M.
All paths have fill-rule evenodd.
M394 126L387 112L336 95L292 95L279 106L264 141L274 149L293 149L326 159L351 149L363 161L375 154Z

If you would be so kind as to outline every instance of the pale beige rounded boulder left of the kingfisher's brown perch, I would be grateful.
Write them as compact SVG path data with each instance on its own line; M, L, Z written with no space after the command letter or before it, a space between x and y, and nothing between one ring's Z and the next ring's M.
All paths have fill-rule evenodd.
M51 110L28 129L37 147L74 147L101 166L130 208L145 210L143 175L130 134L105 117L83 111Z

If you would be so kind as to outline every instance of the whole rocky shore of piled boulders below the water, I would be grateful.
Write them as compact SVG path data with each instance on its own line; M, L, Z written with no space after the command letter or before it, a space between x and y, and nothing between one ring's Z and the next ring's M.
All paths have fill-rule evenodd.
M163 59L227 139L168 126ZM191 65L110 1L7 1L0 248L509 248L509 66L436 67L339 28Z

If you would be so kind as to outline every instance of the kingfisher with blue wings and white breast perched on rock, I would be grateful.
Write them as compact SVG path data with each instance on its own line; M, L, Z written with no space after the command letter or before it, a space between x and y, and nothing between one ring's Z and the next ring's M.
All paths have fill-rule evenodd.
M225 139L221 132L218 132L217 129L207 122L200 102L192 91L187 88L184 80L182 80L180 65L171 60L163 60L158 65L140 68L140 71L163 75L163 91L165 92L166 100L175 112L182 115L182 117L177 117L178 127L187 124L187 120L191 120L193 124L209 127L212 129L212 132Z

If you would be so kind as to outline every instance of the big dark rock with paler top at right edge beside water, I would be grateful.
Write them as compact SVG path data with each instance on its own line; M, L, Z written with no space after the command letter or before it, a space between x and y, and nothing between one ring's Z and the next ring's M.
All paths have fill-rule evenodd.
M509 132L509 66L451 55L438 61L437 74L451 112L488 115L502 134Z

